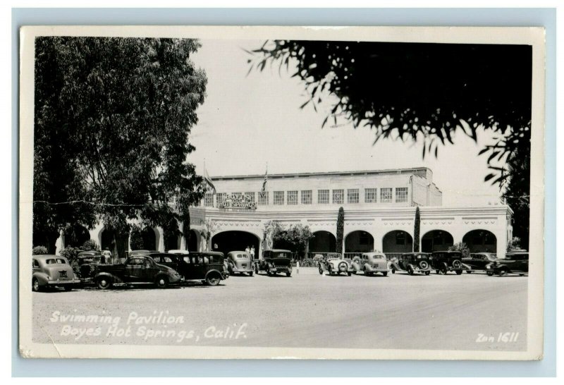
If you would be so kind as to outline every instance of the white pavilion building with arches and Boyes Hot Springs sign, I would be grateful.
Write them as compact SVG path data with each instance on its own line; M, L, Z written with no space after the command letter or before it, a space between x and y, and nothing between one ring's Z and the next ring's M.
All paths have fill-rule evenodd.
M166 245L161 228L145 228L145 248L202 250L207 245L200 231L212 223L212 249L228 252L254 246L260 255L265 224L278 221L309 226L314 238L307 252L331 252L336 249L339 207L345 211L344 252L411 252L416 206L424 252L465 242L472 252L497 252L503 257L513 238L510 207L501 203L443 207L441 190L427 168L274 174L268 176L264 196L260 193L264 175L212 180L216 193L208 193L200 206L190 208L190 237ZM89 234L102 248L111 238L104 236L102 225Z

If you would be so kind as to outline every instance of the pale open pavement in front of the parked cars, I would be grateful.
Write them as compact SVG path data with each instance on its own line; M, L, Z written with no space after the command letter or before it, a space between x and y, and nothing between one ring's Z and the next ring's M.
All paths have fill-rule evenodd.
M514 333L515 341L503 342L499 336L505 333ZM327 276L302 267L290 278L231 276L216 287L192 283L164 290L33 293L33 338L41 343L525 350L527 276Z

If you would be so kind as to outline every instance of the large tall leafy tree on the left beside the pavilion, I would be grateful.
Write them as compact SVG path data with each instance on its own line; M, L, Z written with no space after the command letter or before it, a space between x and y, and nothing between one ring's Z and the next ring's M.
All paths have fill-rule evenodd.
M44 92L36 92L35 130L53 138L52 152L61 152L81 200L114 232L119 255L131 220L177 231L171 219L189 218L188 207L202 198L202 178L186 161L207 84L190 61L199 47L195 39L36 40L36 85ZM35 151L41 157L42 143ZM45 169L47 180L58 172Z

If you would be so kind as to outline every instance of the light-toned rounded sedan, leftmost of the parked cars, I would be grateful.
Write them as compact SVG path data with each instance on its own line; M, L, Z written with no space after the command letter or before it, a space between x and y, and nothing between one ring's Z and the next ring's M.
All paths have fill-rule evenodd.
M68 260L59 255L33 255L32 269L33 291L52 287L72 290L80 284L80 279L68 264Z

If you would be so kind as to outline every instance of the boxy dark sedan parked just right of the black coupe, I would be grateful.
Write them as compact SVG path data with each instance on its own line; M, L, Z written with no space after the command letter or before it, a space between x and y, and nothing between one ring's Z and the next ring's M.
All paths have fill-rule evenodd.
M157 264L178 271L185 281L202 281L209 286L216 286L229 277L223 264L223 252L191 252L184 255L152 252L150 256Z

